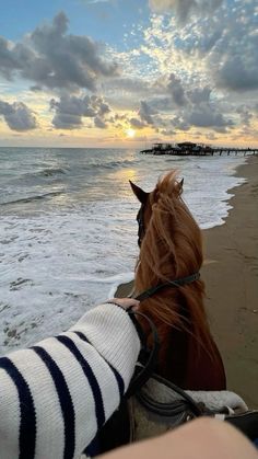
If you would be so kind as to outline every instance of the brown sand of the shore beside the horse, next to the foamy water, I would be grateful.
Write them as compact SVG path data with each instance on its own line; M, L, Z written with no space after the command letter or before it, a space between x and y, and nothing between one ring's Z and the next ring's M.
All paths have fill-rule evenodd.
M258 157L249 157L236 175L247 182L231 191L233 209L225 223L203 231L201 274L227 388L258 409ZM131 284L124 284L117 296L130 290Z

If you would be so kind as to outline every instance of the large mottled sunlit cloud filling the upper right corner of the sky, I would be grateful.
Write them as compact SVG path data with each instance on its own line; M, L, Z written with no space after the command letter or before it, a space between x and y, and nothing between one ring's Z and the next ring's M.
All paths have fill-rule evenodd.
M155 11L141 47L163 74L197 78L219 91L258 89L255 0L150 0ZM184 23L178 24L178 18ZM150 65L149 65L150 67Z

